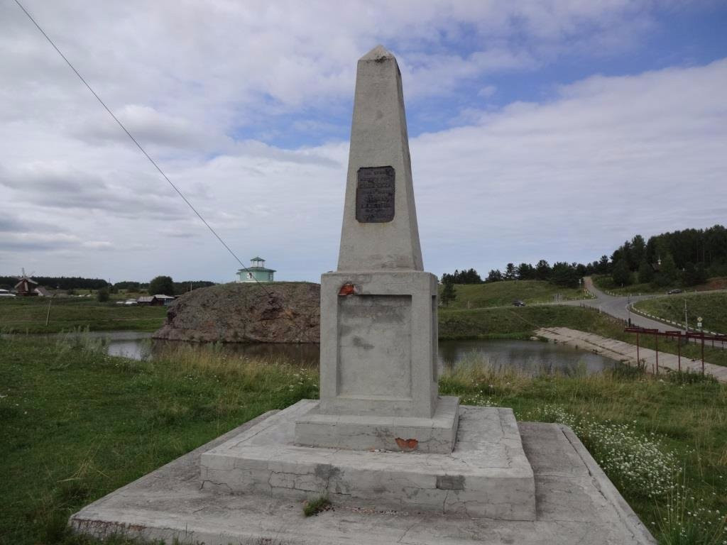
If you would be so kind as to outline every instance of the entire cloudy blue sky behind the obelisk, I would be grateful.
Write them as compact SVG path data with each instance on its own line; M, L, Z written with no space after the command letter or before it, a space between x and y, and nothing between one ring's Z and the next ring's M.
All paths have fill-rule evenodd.
M21 0L247 264L335 268L356 60L398 58L425 269L587 262L727 222L723 1ZM14 0L0 275L237 263Z

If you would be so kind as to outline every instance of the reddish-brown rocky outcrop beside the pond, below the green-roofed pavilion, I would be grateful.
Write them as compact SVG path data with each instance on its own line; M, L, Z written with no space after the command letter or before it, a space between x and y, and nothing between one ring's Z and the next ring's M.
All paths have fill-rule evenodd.
M321 286L229 283L180 296L154 339L196 342L318 342Z

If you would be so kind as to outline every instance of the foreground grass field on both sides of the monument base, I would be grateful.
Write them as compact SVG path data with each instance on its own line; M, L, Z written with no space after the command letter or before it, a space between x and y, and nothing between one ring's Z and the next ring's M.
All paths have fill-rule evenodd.
M0 339L0 543L95 544L68 534L69 514L264 411L318 395L313 369L186 348L140 363L100 348L82 336ZM441 392L571 425L662 544L722 543L727 387L625 371L531 378L472 363L444 376ZM681 507L676 484L694 498ZM670 539L679 533L692 538Z

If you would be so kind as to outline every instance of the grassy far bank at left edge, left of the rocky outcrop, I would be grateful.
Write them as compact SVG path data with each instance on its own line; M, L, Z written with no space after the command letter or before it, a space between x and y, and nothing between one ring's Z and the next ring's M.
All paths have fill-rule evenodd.
M48 326L46 316L51 301ZM165 307L125 306L95 299L15 297L0 299L0 331L57 333L75 328L90 331L156 331L164 323Z

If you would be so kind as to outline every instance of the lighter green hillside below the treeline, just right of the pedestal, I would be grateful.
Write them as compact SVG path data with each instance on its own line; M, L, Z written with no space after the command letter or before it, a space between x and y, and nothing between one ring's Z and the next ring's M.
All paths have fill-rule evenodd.
M449 308L472 309L486 307L512 306L513 301L521 300L526 304L552 303L560 294L561 301L585 299L586 294L578 288L561 288L541 280L507 280L484 284L457 284L457 299ZM441 291L442 286L439 286Z

